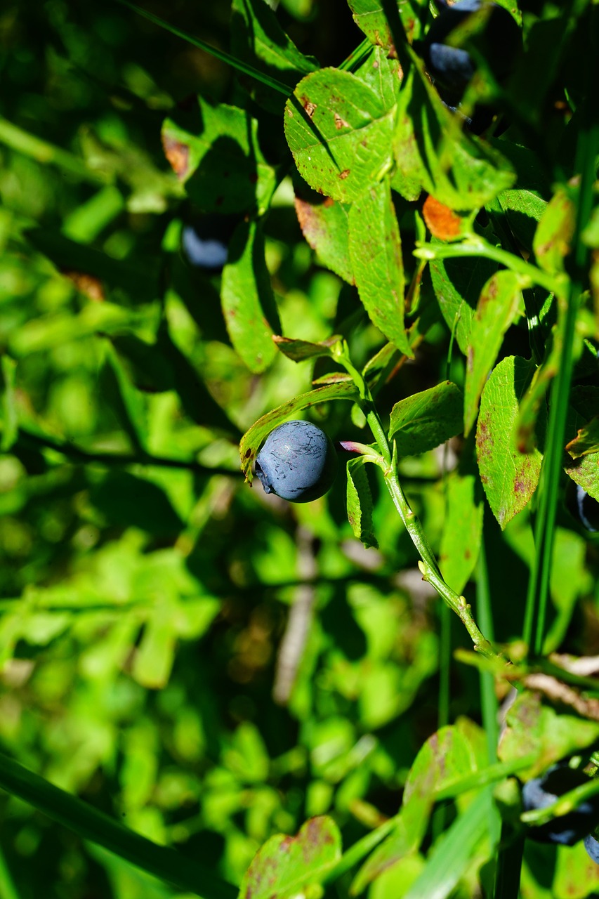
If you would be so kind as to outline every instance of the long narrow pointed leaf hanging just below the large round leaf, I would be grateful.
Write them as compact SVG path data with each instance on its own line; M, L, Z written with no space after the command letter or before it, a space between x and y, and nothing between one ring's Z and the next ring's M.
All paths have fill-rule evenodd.
M389 179L354 200L349 213L349 251L360 299L372 324L412 357L404 325L404 263Z

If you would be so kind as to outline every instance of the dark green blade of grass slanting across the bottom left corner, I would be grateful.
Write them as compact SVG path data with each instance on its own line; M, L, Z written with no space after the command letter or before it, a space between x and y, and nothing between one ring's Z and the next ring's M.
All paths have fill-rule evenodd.
M130 831L121 823L112 821L108 814L55 787L3 754L0 754L0 787L78 833L83 839L98 843L183 892L203 896L204 899L235 899L237 896L235 886L220 880L198 862Z

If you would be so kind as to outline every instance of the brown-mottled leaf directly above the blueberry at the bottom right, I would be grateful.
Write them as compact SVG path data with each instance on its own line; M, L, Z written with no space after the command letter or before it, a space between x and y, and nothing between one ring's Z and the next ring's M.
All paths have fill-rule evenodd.
M529 780L598 739L598 722L562 714L544 705L539 693L523 690L507 713L498 755L501 761L536 755L536 761L521 775Z

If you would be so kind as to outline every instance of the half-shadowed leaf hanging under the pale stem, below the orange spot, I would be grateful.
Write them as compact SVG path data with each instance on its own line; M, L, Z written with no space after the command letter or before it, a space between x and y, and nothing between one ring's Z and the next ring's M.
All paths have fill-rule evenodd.
M458 346L466 355L478 298L497 264L480 258L434 259L429 270L445 323L455 332Z

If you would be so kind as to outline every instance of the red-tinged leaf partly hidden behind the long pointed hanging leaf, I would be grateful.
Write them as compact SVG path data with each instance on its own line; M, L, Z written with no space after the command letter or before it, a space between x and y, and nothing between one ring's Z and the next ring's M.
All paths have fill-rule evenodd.
M301 232L317 254L318 262L353 284L347 206L330 197L302 200L296 196L295 211Z

